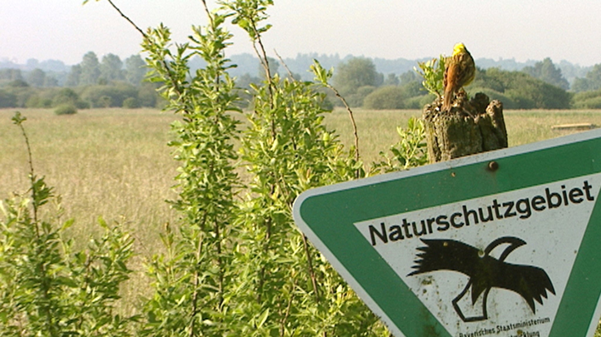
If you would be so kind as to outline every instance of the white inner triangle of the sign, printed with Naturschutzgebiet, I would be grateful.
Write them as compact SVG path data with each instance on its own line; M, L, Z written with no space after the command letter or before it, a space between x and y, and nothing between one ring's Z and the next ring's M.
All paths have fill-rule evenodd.
M355 227L451 335L548 335L599 186L601 175L594 174L370 219ZM487 247L491 250L485 254ZM504 251L507 256L499 261ZM456 260L469 264L473 254L474 266L457 268ZM514 289L495 286L502 280L474 279L478 273L487 277L481 276L486 272L492 278L507 276L477 270L487 267L480 263L485 255L492 258L490 268L504 266L513 274L515 281L503 285ZM419 267L429 269L426 263L435 270L412 275ZM466 269L475 275L466 275ZM545 287L545 275L552 287ZM493 286L483 286L472 304L477 282Z

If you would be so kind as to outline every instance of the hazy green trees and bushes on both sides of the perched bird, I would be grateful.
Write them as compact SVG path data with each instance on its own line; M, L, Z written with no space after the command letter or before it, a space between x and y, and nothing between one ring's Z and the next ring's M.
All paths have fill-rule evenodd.
M415 71L385 76L368 58L342 62L333 80L353 107L421 109L435 98L423 90ZM478 68L474 82L466 87L469 94L484 92L501 100L506 109L601 109L601 64L575 78L569 89L570 83L550 58L521 71Z

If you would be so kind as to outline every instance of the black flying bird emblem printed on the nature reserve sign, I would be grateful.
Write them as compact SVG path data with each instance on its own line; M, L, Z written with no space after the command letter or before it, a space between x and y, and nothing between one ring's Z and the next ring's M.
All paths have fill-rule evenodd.
M435 272L436 270L454 270L469 276L462 293L453 299L453 308L457 315L465 321L487 320L486 300L490 288L503 288L514 291L528 303L534 314L534 301L543 304L542 297L547 298L547 290L555 295L555 288L549 275L542 268L513 264L505 262L505 258L514 249L523 246L526 242L513 236L499 237L491 242L484 251L456 240L447 239L421 239L426 246L418 247L420 251L413 266L413 272L407 276L421 273ZM498 245L508 243L501 256L496 259L490 252ZM480 294L484 293L482 302L482 316L465 317L457 305L460 299L471 287L472 305L475 304Z

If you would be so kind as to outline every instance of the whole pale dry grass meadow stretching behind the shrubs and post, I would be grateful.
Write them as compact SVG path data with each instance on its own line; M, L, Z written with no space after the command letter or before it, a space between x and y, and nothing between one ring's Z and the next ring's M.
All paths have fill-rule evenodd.
M28 189L28 157L22 134L11 122L15 109L0 110L0 199ZM177 162L167 146L169 124L177 116L151 109L91 109L76 115L56 116L51 109L20 109L28 119L25 129L31 143L35 173L62 196L64 219L75 218L70 234L85 243L99 230L96 219L118 222L135 238L141 276L144 257L160 251L159 233L177 214L165 200L177 198L172 189ZM364 163L379 160L379 152L398 142L397 126L421 116L419 110L355 110L359 149ZM243 117L241 116L241 119ZM601 125L601 111L508 110L505 112L510 146L563 136L578 131L555 131L567 123ZM326 116L326 125L353 143L345 110ZM240 173L243 173L242 170ZM144 283L133 281L124 290L135 299ZM132 301L133 302L133 301ZM132 307L130 309L133 309Z

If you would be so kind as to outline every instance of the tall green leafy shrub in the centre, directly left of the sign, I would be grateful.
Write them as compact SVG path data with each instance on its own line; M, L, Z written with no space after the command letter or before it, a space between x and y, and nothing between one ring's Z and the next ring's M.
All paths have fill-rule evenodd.
M349 285L294 226L291 207L305 189L352 179L362 164L323 125L323 94L310 82L271 74L251 86L252 112L242 134L236 86L224 55L227 18L262 50L270 0L225 1L175 50L169 29L152 29L142 44L151 80L162 83L166 110L182 118L171 142L182 214L163 233L165 254L148 273L145 336L384 336L385 329ZM190 71L200 55L206 67ZM236 152L239 139L239 152ZM236 163L246 168L240 189ZM236 191L240 191L239 197Z

